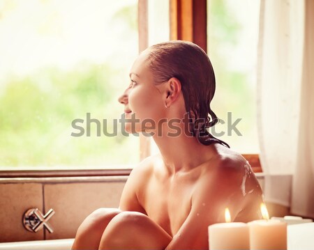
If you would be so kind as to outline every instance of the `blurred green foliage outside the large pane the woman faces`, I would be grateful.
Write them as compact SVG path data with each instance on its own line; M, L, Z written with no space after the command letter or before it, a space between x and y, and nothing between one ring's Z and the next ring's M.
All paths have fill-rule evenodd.
M112 132L112 119L120 118L117 93L112 95L112 75L108 65L99 67L82 63L68 72L45 68L31 77L11 78L0 96L1 165L51 166L125 164L137 161L137 155L121 148L135 138L96 136L91 125L91 137L70 136L75 118L82 118L86 129L86 114L103 121L107 119ZM103 130L103 124L101 126Z

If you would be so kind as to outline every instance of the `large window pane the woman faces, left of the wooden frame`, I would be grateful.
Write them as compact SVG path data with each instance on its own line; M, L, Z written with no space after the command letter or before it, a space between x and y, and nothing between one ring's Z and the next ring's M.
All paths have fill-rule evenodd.
M137 53L136 0L1 1L0 169L138 162L138 137L103 135L124 112ZM100 136L96 123L88 136L89 118ZM71 136L75 119L82 136Z

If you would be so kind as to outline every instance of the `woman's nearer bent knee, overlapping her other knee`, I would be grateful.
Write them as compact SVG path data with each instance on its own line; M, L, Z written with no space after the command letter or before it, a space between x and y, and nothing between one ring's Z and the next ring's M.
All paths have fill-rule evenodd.
M147 215L121 212L108 224L99 249L165 249L171 240Z

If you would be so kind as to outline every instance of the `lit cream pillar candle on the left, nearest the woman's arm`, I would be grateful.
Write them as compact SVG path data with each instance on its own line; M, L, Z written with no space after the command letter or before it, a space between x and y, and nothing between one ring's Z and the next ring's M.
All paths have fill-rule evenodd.
M209 249L250 249L248 226L242 222L230 222L230 212L225 209L226 223L209 226Z

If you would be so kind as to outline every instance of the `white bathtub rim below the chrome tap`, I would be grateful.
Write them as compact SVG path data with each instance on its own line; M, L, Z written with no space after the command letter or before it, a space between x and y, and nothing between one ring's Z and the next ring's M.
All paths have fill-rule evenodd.
M0 243L0 250L70 250L74 239Z

